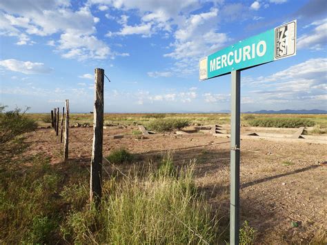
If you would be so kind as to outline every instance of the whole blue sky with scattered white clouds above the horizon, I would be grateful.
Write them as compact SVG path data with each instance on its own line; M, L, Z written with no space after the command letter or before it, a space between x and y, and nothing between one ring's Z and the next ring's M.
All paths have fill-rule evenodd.
M242 71L241 111L326 110L326 1L3 0L0 103L88 112L103 68L106 112L229 110L230 75L200 82L199 59L293 19L297 55Z

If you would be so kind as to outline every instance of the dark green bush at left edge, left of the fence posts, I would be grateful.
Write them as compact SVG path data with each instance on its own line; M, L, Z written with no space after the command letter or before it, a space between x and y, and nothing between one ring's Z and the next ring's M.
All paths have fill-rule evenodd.
M3 112L4 108L0 106L0 166L23 153L28 148L23 135L37 129L37 123L25 115L28 108Z

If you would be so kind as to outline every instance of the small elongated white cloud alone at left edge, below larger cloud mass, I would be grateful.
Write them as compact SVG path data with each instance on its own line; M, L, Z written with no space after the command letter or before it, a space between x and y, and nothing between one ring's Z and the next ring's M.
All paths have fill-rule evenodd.
M3 59L0 61L0 66L14 72L24 74L47 74L53 69L47 68L43 63L33 63L31 61L19 61L17 59Z

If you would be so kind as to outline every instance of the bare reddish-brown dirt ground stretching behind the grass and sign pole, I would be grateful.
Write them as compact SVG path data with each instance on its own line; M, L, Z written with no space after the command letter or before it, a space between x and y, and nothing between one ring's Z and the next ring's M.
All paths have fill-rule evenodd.
M171 150L177 165L196 159L196 182L217 210L221 224L228 224L229 139L205 134L112 138L128 135L132 129L104 129L103 156L123 147L148 157ZM93 128L70 128L71 161L90 164L92 137ZM62 161L63 144L54 130L38 129L28 140L30 153L45 153L53 164ZM327 168L319 165L327 160L326 148L326 144L241 140L241 222L247 220L255 228L257 244L306 244L326 232Z

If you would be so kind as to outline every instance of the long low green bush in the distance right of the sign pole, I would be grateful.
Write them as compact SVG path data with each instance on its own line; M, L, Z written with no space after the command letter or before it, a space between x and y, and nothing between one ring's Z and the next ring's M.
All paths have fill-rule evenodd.
M304 118L258 118L248 122L255 127L299 128L314 126L315 122Z

